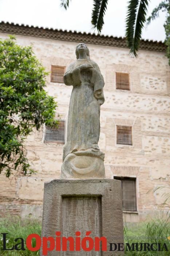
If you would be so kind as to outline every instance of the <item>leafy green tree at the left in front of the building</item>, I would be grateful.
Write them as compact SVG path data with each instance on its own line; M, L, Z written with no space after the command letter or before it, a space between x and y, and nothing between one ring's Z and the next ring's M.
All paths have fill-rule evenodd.
M0 173L26 175L29 166L24 140L42 124L56 126L53 97L44 90L44 68L32 48L19 46L14 37L0 40Z

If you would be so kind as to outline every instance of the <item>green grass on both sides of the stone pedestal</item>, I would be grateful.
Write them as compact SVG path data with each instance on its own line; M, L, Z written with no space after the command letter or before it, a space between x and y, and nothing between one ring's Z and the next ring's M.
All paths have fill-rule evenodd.
M11 248L15 242L15 238L22 237L25 239L29 234L41 233L41 223L37 220L20 218L5 218L0 219L0 233L8 233L7 235L7 248ZM124 226L124 244L125 243L160 243L161 247L165 243L169 251L125 251L125 255L129 256L167 256L170 255L170 222L167 220L156 219L150 222L141 223L125 223ZM2 251L2 235L0 235L0 256L2 255L39 255L39 252L31 252L27 248L25 251ZM35 241L33 241L35 246ZM111 252L110 252L111 253Z

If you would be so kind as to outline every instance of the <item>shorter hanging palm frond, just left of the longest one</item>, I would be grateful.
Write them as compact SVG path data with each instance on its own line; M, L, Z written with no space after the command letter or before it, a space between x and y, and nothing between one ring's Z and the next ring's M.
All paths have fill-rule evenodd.
M104 14L107 10L108 0L94 0L91 16L92 29L97 29L100 33L104 25Z

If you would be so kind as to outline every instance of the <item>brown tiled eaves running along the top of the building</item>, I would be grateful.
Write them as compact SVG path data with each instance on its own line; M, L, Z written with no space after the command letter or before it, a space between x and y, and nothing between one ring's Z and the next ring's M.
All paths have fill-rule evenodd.
M61 41L84 42L86 44L115 46L128 48L125 37L113 37L108 35L96 35L91 33L81 33L77 31L67 31L62 29L34 27L24 24L14 24L0 22L0 32L8 34L27 35L32 37L50 38ZM166 45L159 41L141 40L140 49L165 52Z

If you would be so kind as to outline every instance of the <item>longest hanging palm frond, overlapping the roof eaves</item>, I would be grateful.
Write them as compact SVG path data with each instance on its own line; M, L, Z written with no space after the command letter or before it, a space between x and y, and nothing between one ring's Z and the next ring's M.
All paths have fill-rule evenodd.
M126 37L130 54L137 57L149 0L130 0L126 19ZM134 13L133 13L134 12Z

